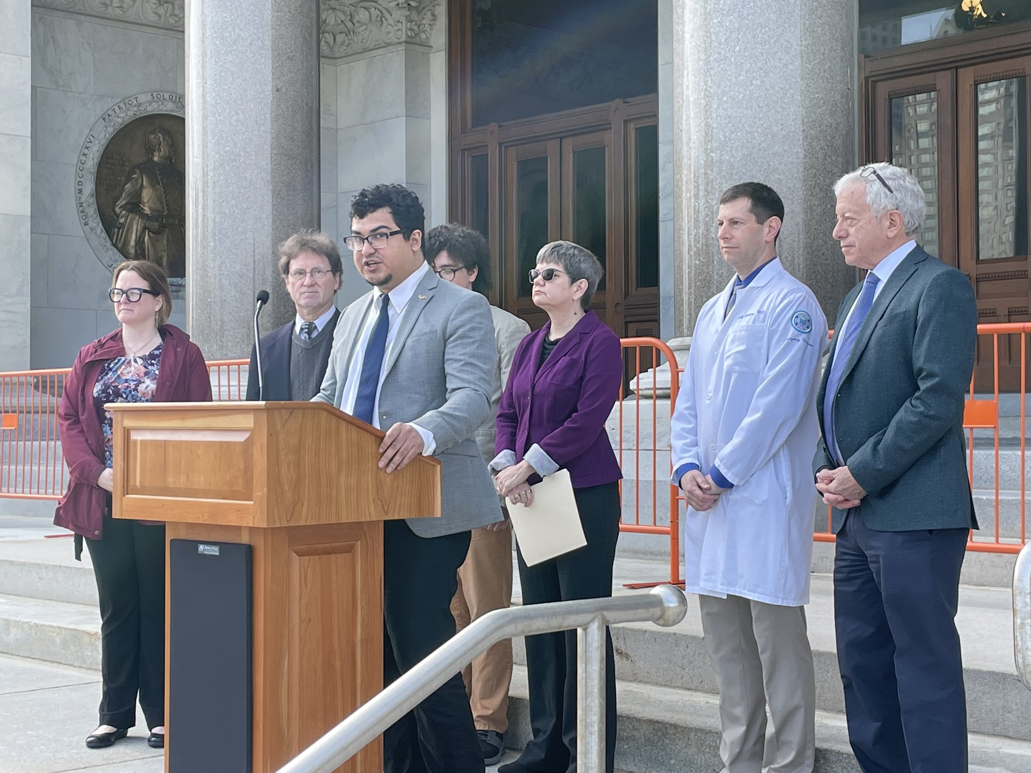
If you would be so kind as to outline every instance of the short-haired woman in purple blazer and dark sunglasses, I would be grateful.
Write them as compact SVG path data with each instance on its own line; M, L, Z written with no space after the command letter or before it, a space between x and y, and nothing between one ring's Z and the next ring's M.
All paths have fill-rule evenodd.
M568 470L587 545L532 567L519 552L524 604L597 599L612 593L622 476L605 432L620 393L620 339L588 311L603 269L578 244L554 241L530 271L533 302L550 322L516 349L498 406L491 469L502 496L533 499L530 484ZM606 634L606 771L616 748L616 664ZM500 773L576 769L576 632L526 637L533 740Z

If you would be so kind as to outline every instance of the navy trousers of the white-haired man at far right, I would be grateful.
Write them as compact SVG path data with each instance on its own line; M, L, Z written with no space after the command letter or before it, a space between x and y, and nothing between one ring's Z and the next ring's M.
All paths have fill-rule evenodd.
M837 535L834 619L849 738L865 773L967 770L956 631L966 529Z

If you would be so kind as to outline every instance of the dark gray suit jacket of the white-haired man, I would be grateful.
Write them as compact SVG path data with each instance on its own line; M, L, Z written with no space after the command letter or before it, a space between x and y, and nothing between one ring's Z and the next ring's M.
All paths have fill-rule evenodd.
M840 331L861 284L838 308ZM876 531L977 528L964 459L963 401L973 372L977 307L970 280L914 247L885 282L859 331L834 398L838 448L866 497L834 509ZM824 394L817 403L821 433ZM826 439L813 472L837 467Z

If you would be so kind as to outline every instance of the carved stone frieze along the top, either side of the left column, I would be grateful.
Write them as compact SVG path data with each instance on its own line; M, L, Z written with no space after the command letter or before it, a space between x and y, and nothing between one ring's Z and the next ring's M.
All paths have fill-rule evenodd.
M100 19L182 31L186 0L32 0ZM321 49L340 58L405 41L428 44L442 0L321 0Z

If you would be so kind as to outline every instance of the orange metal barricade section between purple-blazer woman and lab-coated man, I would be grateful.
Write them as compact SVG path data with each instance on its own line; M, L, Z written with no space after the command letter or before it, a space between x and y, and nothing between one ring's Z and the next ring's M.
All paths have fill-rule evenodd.
M679 370L672 349L658 338L624 338L623 362L625 385L637 379L634 399L628 400L625 385L620 388L617 403L616 456L623 470L620 492L623 502L621 532L665 535L669 540L669 578L680 578L680 497L670 483L672 467L669 450L669 417L676 403ZM658 376L651 368L665 360L669 365L669 405L659 397ZM664 392L664 390L663 390ZM665 421L660 422L660 415ZM626 430L632 427L628 438ZM628 447L628 439L632 447ZM643 473L643 476L642 476ZM643 484L643 488L642 488ZM661 493L668 491L668 503ZM665 512L664 512L665 511ZM632 513L632 515L631 515ZM666 517L663 517L663 515ZM628 519L629 518L629 519ZM663 523L665 522L665 523ZM646 587L658 582L632 583L628 587Z

